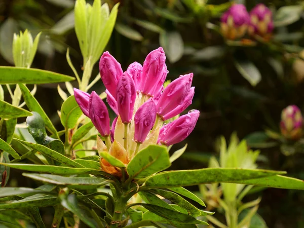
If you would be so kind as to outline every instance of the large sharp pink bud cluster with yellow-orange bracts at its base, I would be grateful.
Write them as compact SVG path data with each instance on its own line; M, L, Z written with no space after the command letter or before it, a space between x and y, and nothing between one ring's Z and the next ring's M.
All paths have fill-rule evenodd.
M163 48L150 52L143 62L134 62L124 72L120 63L108 52L100 58L101 80L106 87L107 102L118 115L110 127L105 103L93 91L91 94L74 89L74 96L84 115L89 117L104 137L97 139L98 151L106 151L120 162L128 164L139 150L150 144L166 146L184 140L194 129L199 111L192 110L169 124L164 121L178 116L194 96L193 73L180 75L165 89L166 56ZM103 171L122 175L124 167L111 165L102 158Z

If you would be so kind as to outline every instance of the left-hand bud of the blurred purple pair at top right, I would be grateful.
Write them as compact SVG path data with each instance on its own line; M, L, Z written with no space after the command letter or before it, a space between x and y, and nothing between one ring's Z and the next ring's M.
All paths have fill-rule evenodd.
M245 34L249 22L246 7L234 4L221 17L221 32L226 39L239 39Z

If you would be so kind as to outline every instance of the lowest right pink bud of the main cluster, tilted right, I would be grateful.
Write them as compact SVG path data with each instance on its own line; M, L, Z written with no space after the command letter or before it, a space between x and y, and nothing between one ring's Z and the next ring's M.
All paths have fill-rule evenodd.
M158 143L169 146L181 142L193 131L199 116L200 111L192 110L163 126L160 130Z

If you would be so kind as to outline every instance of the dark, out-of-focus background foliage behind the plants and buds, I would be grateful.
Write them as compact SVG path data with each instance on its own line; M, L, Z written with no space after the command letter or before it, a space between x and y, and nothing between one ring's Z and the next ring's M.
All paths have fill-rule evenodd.
M93 1L87 2L92 4ZM270 40L245 36L238 41L225 40L219 29L222 13L233 2L104 2L110 9L120 2L115 30L106 50L123 69L134 61L143 63L151 50L162 46L167 56L168 79L194 72L196 89L191 108L199 109L201 116L194 132L186 139L186 153L173 164L173 169L207 167L211 156L218 157L216 139L220 135L229 138L237 132L239 138L248 140L249 147L260 149L257 158L260 168L286 170L289 175L304 179L303 144L301 140L282 142L279 125L281 111L287 105L304 108L302 1L235 1L246 5L248 12L256 4L267 5L273 12L275 24ZM0 65L13 65L13 34L28 29L33 37L42 32L33 68L73 75L65 57L69 48L73 65L82 74L83 59L73 29L73 6L74 0L0 0ZM96 64L93 75L98 71ZM91 90L101 93L105 88L100 81ZM7 91L5 96L10 100ZM57 85L39 86L35 97L52 117L57 130L61 130L57 110L62 100ZM11 181L14 181L12 176ZM198 191L198 188L191 190ZM258 213L269 227L304 227L302 192L257 189L247 198L256 199L260 195Z

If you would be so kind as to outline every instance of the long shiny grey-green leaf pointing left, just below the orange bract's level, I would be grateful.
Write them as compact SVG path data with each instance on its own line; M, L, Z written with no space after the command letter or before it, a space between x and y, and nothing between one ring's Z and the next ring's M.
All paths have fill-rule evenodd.
M51 174L39 174L39 173L23 173L23 176L32 178L34 180L39 180L46 183L56 184L56 185L67 185L71 188L78 187L78 185L92 186L96 188L98 186L103 186L113 182L112 180L105 180L103 178L97 177L64 177Z

